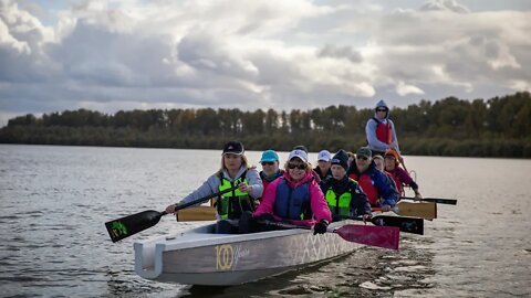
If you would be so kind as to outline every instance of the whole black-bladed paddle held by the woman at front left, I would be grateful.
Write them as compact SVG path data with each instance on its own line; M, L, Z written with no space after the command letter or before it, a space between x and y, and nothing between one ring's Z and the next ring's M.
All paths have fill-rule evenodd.
M231 192L236 189L238 189L237 185L235 185L233 188L190 201L188 203L177 204L175 206L175 211L204 203L212 198L220 196L221 194ZM111 240L113 242L117 242L156 225L160 221L160 217L163 217L166 214L168 214L166 213L166 211L158 212L155 210L147 210L147 211L132 214L132 215L127 215L122 219L106 222L105 227L107 228L108 236L111 236Z

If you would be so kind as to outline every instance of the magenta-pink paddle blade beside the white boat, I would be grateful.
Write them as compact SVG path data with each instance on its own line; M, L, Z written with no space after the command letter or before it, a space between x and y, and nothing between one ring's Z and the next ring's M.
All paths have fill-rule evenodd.
M346 224L333 231L342 238L360 244L398 249L400 232L394 226Z

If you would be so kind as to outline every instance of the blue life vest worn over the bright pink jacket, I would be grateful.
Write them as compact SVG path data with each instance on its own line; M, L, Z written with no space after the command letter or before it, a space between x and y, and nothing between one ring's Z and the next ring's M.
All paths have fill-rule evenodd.
M288 185L285 179L282 179L277 185L274 215L296 221L311 219L313 214L310 206L310 182L312 180L292 189Z

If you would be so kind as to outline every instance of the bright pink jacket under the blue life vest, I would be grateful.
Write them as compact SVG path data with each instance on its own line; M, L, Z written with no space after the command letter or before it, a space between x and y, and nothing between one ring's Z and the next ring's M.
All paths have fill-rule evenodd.
M292 221L294 224L303 224L308 226L314 225L316 222L321 220L326 220L329 223L332 221L332 214L330 213L329 205L326 203L326 200L324 199L324 194L321 191L321 188L319 187L317 182L315 182L315 179L313 178L312 172L306 173L304 178L299 181L299 182L293 182L290 178L290 174L288 172L284 173L284 175L280 177L279 179L274 180L271 182L268 188L266 189L266 192L262 195L262 201L258 205L257 211L254 211L253 215L259 216L264 213L270 213L272 214L278 221L282 221L283 219L273 214L273 206L274 206L274 201L277 200L277 187L279 185L280 181L285 180L288 182L288 185L290 188L294 188L296 185L303 184L305 182L310 181L310 207L312 209L312 213L314 215L313 220L303 220L303 221Z

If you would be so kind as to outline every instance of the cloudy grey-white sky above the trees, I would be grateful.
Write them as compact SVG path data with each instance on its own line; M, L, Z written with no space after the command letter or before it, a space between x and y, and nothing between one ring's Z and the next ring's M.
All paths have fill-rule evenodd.
M531 1L0 0L0 126L531 91Z

